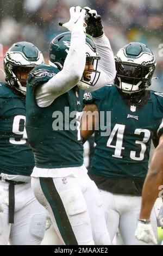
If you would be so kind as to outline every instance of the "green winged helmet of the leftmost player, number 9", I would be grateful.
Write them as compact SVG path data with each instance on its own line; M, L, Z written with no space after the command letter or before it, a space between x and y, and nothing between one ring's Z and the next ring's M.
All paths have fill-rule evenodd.
M22 78L36 65L44 63L42 53L30 42L16 42L4 56L5 80L9 85L26 95L26 80Z

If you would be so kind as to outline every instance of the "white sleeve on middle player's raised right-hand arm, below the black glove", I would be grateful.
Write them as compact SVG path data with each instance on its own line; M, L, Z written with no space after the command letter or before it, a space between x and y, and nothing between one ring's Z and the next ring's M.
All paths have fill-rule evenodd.
M114 81L116 75L114 54L111 50L109 39L105 34L101 38L92 38L96 45L96 50L101 57L98 61L98 71L101 72L99 79L95 86L90 86L86 92L92 92L103 87L105 84L110 84ZM92 74L91 80L94 78Z

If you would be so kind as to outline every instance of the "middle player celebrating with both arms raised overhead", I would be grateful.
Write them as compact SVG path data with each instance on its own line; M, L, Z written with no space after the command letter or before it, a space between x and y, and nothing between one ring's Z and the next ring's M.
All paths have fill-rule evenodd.
M64 244L108 245L98 189L83 165L79 125L84 89L95 90L114 79L114 57L101 20L102 30L93 42L84 33L85 10L71 7L70 16L62 26L71 33L51 42L51 65L40 65L28 76L26 129L35 155L32 187Z

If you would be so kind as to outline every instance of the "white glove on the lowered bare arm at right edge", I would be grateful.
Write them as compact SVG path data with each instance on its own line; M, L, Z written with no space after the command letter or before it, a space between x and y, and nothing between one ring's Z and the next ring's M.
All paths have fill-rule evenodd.
M152 242L155 245L158 244L151 223L146 224L138 221L135 230L135 237L145 243Z

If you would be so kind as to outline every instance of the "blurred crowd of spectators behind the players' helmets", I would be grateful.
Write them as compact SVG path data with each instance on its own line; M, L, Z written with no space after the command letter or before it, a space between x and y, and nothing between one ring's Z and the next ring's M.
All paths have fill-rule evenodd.
M151 89L163 93L163 1L162 0L0 0L0 68L3 54L16 41L33 42L48 59L48 45L64 32L59 21L69 19L69 8L80 5L96 9L102 16L112 50L130 41L152 49L157 66ZM3 71L0 70L3 80Z

